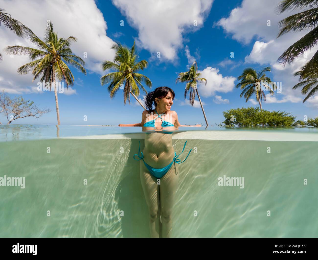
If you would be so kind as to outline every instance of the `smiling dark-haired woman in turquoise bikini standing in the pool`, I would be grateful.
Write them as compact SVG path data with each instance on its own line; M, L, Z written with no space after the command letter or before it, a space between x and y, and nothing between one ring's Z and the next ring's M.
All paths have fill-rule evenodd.
M167 132L165 129L176 130L178 126L201 126L181 125L179 123L176 111L171 110L174 98L175 93L172 89L158 87L155 91L149 92L145 98L147 110L142 112L141 123L119 125L142 126L145 129L155 129L155 132L147 133L145 147L141 156L139 154L140 141L138 155L134 155L134 159L135 156L139 157L139 159L135 160L140 160L140 179L149 209L151 237L171 236L171 213L179 176L178 164L185 161L184 159L181 162L178 159L178 156L181 154L176 155L173 149L172 132ZM154 110L152 109L153 103L155 104ZM173 167L171 167L172 164ZM160 229L160 217L162 230ZM162 233L162 236L160 236L160 233Z

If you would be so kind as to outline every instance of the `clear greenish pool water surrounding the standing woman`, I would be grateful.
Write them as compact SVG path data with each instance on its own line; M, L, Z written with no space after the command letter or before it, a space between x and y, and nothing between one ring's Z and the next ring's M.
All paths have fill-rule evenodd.
M0 177L25 177L24 189L0 186L0 237L150 237L141 128L58 132L0 127ZM318 237L316 129L182 129L176 151L185 140L196 152L179 165L173 237ZM219 186L224 175L244 188Z

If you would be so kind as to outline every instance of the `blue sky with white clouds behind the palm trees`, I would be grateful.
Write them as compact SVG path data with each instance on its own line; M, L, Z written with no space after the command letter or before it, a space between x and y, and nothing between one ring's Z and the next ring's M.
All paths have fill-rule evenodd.
M0 0L0 6L4 6L6 12L29 26L40 38L43 38L45 21L50 19L59 36L78 37L78 42L72 45L76 55L82 57L83 52L87 52L87 58L84 58L87 75L73 68L74 86L68 95L58 95L62 125L118 125L141 122L143 109L134 97L131 96L130 104L124 106L121 92L110 99L107 86L100 85L100 76L106 72L100 70L99 64L113 57L109 46L114 41L120 41L130 47L134 40L140 59L149 62L149 67L142 73L152 81L152 90L158 86L169 86L175 91L176 98L172 110L178 113L181 124L205 124L198 101L195 107L191 107L183 98L185 85L175 83L177 74L186 71L193 59L197 60L198 69L204 71L203 74L208 77L207 86L199 86L198 91L210 125L222 122L222 112L225 110L258 105L255 97L245 103L245 99L239 97L241 90L234 87L238 83L236 78L249 66L256 70L272 66L273 71L268 73L268 76L274 82L282 82L282 93L276 93L273 98L269 97L269 94L266 95L268 102L262 103L263 109L285 110L297 116L297 119L303 119L304 115L318 116L318 98L315 97L303 104L304 96L300 90L292 90L297 83L293 71L303 65L306 59L311 58L315 50L308 52L308 57L302 57L286 68L281 68L276 63L280 54L304 35L302 32L276 39L277 21L280 17L288 15L287 13L277 16L274 13L279 1L207 0L197 1L201 3L199 6L189 1L188 5L194 6L184 7L184 13L180 8L185 6L184 4L171 7L157 6L152 9L147 7L147 4L142 5L142 1L126 1L87 0L85 8L79 6L77 1L65 2L65 8L43 1L37 3L37 8L32 8L32 4L31 7L21 6L25 4L21 2L19 8L16 8L19 1ZM164 4L164 1L162 3ZM46 5L51 8L45 8ZM35 6L37 5L33 7ZM34 12L33 19L25 14L24 10L27 8ZM56 17L54 8L65 10L68 17L63 15L63 11ZM39 14L37 10L48 11L41 11ZM265 14L255 18L254 11L257 10L264 10ZM194 20L193 17L199 21L197 27L189 22ZM121 20L124 26L120 25ZM267 20L271 21L271 26L267 26ZM87 27L79 28L81 23ZM0 37L4 39L1 49L14 44L31 46L27 40L16 37L3 25L0 27ZM156 50L161 51L160 58L155 57ZM234 52L233 58L230 57L231 52ZM54 93L38 93L35 91L37 83L31 82L31 75L20 76L16 73L19 66L28 62L28 58L10 59L8 55L3 56L5 57L0 63L0 88L5 89L12 97L23 95L40 107L52 110L39 119L28 117L13 123L56 124ZM146 89L149 90L147 87ZM144 93L141 93L139 98L142 99L143 96ZM87 121L83 120L84 116L87 116ZM1 114L0 121L6 123Z

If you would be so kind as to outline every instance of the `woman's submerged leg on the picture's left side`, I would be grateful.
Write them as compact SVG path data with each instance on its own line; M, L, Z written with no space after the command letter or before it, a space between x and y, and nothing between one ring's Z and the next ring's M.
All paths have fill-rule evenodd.
M149 173L142 160L140 160L140 180L149 210L149 229L153 238L160 234L160 194L157 178Z

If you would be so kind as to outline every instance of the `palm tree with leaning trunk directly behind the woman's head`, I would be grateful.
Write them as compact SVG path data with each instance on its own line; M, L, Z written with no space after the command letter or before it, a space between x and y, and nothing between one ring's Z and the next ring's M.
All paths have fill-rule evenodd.
M137 98L140 94L139 87L141 87L142 90L147 93L142 85L142 82L145 83L150 89L152 87L152 83L148 77L137 73L137 71L145 69L148 65L148 62L146 60L138 62L139 57L135 50L135 42L130 50L127 46L122 45L119 42L116 42L111 49L116 51L114 62L105 60L102 63L102 69L104 71L115 70L115 72L111 72L102 76L100 78L100 84L105 85L109 83L107 89L110 93L110 98L113 98L120 87L125 84L123 91L124 104L126 105L127 98L128 102L130 103L130 93L133 95L133 97L135 97L143 109L146 110L144 105Z

